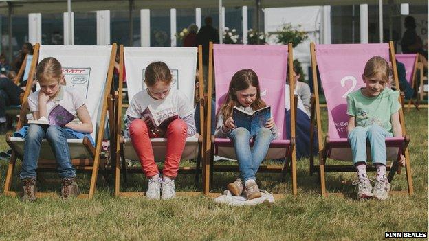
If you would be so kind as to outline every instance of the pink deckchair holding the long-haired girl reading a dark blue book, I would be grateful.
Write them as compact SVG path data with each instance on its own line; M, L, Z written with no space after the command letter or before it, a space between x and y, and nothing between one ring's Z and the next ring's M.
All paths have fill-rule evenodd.
M213 62L214 60L214 62ZM289 62L289 69L287 63ZM210 43L209 69L208 69L208 97L212 93L212 71L214 67L216 110L225 100L232 76L241 69L253 69L259 77L261 96L271 106L272 116L276 126L281 131L280 138L270 144L265 159L284 159L284 165L261 165L258 172L280 172L282 181L285 179L287 168L292 164L293 194L296 195L296 159L295 159L295 113L297 96L294 95L294 83L291 82L290 101L294 103L291 108L291 123L285 123L285 84L286 74L292 79L292 44L281 45L213 45ZM213 65L214 63L214 65ZM239 172L236 165L214 165L214 155L236 159L234 144L228 138L214 138L210 133L211 100L207 103L206 115L206 161L204 163L204 193L210 190L210 176L212 172ZM291 105L292 106L292 105ZM286 139L286 125L291 125L291 139ZM250 146L252 146L251 141ZM209 176L210 174L210 176Z

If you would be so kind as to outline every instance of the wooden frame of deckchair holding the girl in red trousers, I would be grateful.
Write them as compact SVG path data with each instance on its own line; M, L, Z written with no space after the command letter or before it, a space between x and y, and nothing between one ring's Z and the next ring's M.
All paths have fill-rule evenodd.
M123 72L124 72L124 45L120 45L120 69L119 69L119 85L118 85L118 94L115 95L118 98L118 102L115 103L115 152L113 157L115 158L115 196L144 196L144 192L121 192L120 191L120 174L122 170L122 179L124 183L127 182L127 172L129 173L143 173L142 168L127 168L126 160L124 155L124 137L122 137L122 93L123 93ZM203 56L202 56L202 46L198 46L198 72L199 72L199 117L200 117L200 130L199 135L199 148L198 148L198 158L195 167L180 167L179 173L183 174L195 174L195 183L198 181L198 174L201 172L201 160L203 160L203 147L205 146L204 138L206 133L206 128L204 125L204 109L206 106L207 97L204 96L204 82L203 82ZM198 123L196 123L198 124ZM159 168L159 171L162 171ZM195 196L201 194L201 192L176 192L177 196Z

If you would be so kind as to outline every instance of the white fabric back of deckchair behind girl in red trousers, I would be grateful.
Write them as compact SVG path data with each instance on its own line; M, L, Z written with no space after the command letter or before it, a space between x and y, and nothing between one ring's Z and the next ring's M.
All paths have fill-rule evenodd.
M165 62L173 74L172 88L179 89L194 103L197 47L124 47L128 97L146 89L144 69L155 61Z

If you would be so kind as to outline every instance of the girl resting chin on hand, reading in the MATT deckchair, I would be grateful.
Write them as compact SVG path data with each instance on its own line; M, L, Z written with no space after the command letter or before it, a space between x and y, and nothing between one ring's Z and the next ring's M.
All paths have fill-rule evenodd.
M85 98L76 91L62 85L65 82L63 69L56 58L44 58L36 69L36 78L41 89L28 96L28 106L33 119L46 118L56 105L61 105L80 123L69 122L65 126L30 124L25 135L24 158L20 178L23 181L24 200L35 200L36 169L41 150L42 139L47 139L54 152L58 172L62 180L61 196L78 196L76 170L70 159L67 139L82 138L85 133L92 133L91 117L85 106Z

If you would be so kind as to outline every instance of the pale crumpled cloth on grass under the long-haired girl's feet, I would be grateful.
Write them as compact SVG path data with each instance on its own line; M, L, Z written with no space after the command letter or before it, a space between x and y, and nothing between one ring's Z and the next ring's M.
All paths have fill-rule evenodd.
M214 198L214 202L216 203L225 203L232 206L252 206L260 203L274 203L274 196L269 194L265 190L259 190L262 194L260 198L254 198L252 200L248 200L244 195L242 196L232 196L230 190L225 190L222 196Z

